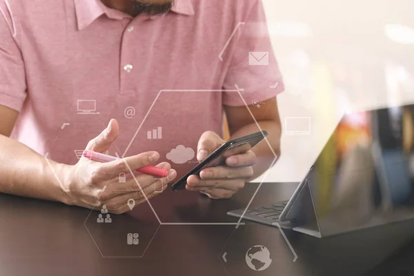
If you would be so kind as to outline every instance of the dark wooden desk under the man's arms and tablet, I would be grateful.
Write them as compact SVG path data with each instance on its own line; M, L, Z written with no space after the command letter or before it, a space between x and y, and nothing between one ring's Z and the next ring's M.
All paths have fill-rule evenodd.
M264 184L252 205L288 199L296 186ZM245 207L256 188L223 201L167 190L151 199L161 226L148 204L98 224L99 212L0 195L0 275L413 275L414 221L326 239L285 231L296 262L277 228L224 225L237 222L226 212ZM127 244L128 233L139 233L139 245ZM266 270L246 265L255 245L270 250Z

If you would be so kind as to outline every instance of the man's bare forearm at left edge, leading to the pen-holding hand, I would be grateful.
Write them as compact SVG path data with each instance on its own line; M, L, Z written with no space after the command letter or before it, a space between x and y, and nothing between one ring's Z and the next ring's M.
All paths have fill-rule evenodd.
M50 160L60 175L61 165ZM65 201L66 193L46 159L28 146L0 135L0 193Z

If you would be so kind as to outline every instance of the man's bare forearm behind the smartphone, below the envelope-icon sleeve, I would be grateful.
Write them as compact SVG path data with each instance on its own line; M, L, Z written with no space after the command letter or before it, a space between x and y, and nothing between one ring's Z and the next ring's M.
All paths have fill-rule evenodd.
M278 157L280 155L280 137L282 135L282 128L280 124L272 120L258 121L258 124L262 130L268 130L269 135L267 139L271 149L266 141L262 141L253 148L253 152L255 152L257 161L253 166L255 174L251 179L259 177L270 167L273 160L275 159L275 154ZM231 137L241 137L257 131L258 129L255 123L248 124L237 130L235 133L232 133ZM275 154L273 152L275 152Z

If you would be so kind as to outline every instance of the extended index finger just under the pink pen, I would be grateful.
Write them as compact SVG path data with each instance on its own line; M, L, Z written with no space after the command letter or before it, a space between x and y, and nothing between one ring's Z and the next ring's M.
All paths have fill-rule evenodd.
M148 166L158 159L159 153L156 151L143 152L139 155L132 155L123 159L100 164L100 170L104 174L112 173L113 175L130 173L137 170L137 168Z

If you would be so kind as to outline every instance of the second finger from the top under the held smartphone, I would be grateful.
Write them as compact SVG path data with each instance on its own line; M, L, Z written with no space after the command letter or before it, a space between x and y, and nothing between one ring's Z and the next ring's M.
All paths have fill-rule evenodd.
M249 179L253 177L253 168L246 167L228 167L218 166L214 168L205 168L200 172L201 179Z

